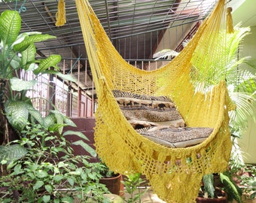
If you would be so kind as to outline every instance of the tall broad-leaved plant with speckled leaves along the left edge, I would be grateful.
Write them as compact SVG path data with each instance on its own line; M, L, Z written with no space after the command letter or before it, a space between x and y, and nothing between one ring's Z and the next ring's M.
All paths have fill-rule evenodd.
M49 127L58 120L59 125L69 123L59 111L51 111L43 118L32 106L32 98L26 92L32 89L42 74L56 74L66 80L75 81L70 75L61 74L57 63L61 56L51 55L46 59L35 59L35 42L55 38L40 32L20 34L21 17L17 11L4 11L0 16L0 144L20 139L20 132L27 121L35 121ZM28 74L34 77L26 80ZM49 103L50 104L50 103ZM54 107L53 107L54 108ZM63 126L62 126L63 127ZM59 131L62 130L59 127ZM11 147L11 146L10 146ZM14 147L14 150L17 148Z

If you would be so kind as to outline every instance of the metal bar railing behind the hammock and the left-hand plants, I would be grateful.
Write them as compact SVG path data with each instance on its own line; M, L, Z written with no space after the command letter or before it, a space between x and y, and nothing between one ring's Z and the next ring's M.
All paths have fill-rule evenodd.
M130 64L143 70L154 70L166 65L166 60L127 60ZM75 68L72 66L72 60L62 61L62 72L76 75L78 81L76 84L70 81L61 80L58 77L42 75L38 77L38 83L33 89L27 92L27 96L32 98L34 107L46 116L50 109L56 108L62 114L68 117L93 117L96 111L96 95L93 86L93 79L90 70L87 70L87 59L81 59L75 62ZM71 68L70 68L71 67ZM85 68L84 68L85 67ZM88 68L89 69L89 68ZM85 74L87 73L87 74ZM83 76L83 77L82 77ZM32 80L32 74L27 76ZM88 86L88 83L91 83ZM75 87L74 87L75 86ZM87 86L87 88L84 88ZM88 92L90 91L90 95Z

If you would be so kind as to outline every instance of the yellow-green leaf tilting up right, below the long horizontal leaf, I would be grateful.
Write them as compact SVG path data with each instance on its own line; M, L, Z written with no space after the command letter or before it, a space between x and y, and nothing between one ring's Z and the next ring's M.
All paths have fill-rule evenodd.
M34 74L40 74L47 70L48 68L55 66L58 62L60 62L61 56L59 55L50 55L47 59L41 59L38 68L36 68L33 72Z

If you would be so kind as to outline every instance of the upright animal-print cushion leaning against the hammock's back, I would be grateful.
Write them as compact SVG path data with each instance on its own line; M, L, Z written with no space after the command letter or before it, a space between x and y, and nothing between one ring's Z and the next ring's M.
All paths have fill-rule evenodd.
M138 95L113 91L123 116L134 129L150 126L184 127L185 122L167 96Z

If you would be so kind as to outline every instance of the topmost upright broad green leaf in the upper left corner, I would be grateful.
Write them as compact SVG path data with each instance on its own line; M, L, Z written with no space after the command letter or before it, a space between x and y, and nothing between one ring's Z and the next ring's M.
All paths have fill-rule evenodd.
M21 18L18 11L4 11L0 17L0 38L3 44L14 43L20 33Z

